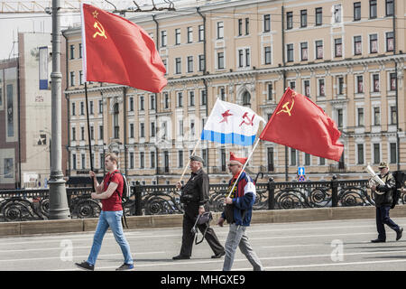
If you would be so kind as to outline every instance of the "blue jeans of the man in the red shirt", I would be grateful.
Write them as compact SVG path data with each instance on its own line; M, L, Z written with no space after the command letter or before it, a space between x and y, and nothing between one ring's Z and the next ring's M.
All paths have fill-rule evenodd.
M93 245L88 256L88 264L95 265L98 252L100 251L103 238L105 237L108 228L111 228L115 241L120 245L121 251L125 257L125 264L133 264L133 257L131 256L130 245L125 239L123 226L121 224L121 217L123 210L102 210L98 219L95 236L93 238Z

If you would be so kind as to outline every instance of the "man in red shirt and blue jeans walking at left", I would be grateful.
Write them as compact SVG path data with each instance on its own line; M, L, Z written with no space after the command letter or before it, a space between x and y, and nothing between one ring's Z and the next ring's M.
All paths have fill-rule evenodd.
M121 247L125 257L125 263L118 267L117 271L132 270L134 268L133 257L131 256L130 245L125 239L121 218L123 216L123 206L121 198L123 196L124 180L120 171L117 170L117 156L107 154L105 167L107 174L103 182L98 184L95 172L89 172L95 183L96 192L92 192L92 199L101 199L102 211L98 219L93 245L88 256L88 261L75 263L81 269L93 271L100 251L103 238L108 228L111 228L115 241Z

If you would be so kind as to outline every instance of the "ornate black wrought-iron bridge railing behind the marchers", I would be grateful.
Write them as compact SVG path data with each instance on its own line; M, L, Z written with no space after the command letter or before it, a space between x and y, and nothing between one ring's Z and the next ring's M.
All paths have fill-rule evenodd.
M366 180L323 182L256 183L254 210L306 209L345 206L373 206L374 198ZM97 218L101 203L90 198L91 188L67 188L71 218ZM180 191L174 185L141 185L131 187L132 196L125 200L126 215L159 215L183 213ZM209 208L222 211L226 184L211 184ZM399 200L406 203L406 193ZM49 190L0 191L0 221L48 219Z

